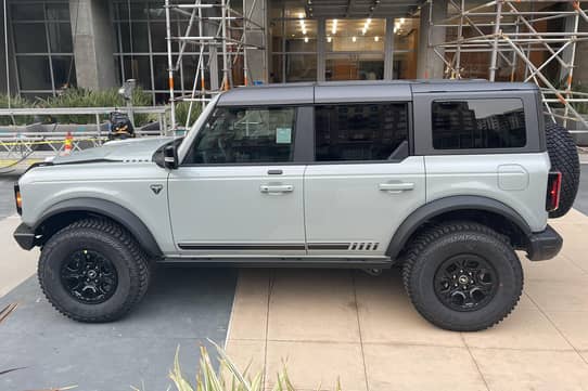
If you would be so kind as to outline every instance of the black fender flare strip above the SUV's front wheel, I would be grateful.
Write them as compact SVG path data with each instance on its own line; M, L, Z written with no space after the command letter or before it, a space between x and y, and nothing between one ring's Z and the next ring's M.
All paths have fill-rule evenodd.
M80 197L59 201L47 209L31 229L37 232L52 217L67 212L99 214L112 219L129 231L148 255L163 256L153 234L137 214L120 205L101 198Z

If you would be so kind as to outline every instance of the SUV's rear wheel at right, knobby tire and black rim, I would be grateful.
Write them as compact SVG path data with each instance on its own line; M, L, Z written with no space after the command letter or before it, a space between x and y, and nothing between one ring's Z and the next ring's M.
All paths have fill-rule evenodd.
M523 290L523 270L512 247L495 231L473 222L423 232L407 251L402 277L417 311L456 331L499 323Z

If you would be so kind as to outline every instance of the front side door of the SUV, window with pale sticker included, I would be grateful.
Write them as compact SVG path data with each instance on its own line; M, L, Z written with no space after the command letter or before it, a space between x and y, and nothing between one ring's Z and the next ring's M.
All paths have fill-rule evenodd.
M216 107L168 180L178 251L305 255L296 107Z

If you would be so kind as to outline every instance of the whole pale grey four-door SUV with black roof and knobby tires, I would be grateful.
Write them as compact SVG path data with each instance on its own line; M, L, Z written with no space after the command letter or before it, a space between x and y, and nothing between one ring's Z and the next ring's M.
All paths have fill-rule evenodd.
M435 325L480 330L522 292L515 250L554 257L548 217L579 178L534 84L329 82L238 88L183 138L114 141L15 185L49 301L119 318L156 264L402 268Z

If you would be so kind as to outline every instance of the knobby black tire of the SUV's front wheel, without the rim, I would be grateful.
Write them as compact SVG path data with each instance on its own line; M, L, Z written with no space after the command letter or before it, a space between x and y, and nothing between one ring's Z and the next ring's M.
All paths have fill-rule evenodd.
M60 271L66 257L80 249L104 253L117 272L117 287L101 303L84 303L63 286ZM49 302L63 315L87 323L111 322L127 314L145 295L151 266L142 248L118 224L105 219L76 221L55 233L43 246L38 278Z

